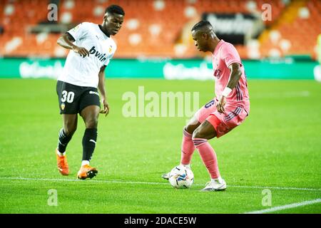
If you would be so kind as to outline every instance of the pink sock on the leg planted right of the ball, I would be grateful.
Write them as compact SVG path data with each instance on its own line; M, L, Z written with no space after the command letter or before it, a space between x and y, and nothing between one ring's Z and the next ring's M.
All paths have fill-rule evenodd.
M198 152L200 152L200 157L208 169L210 177L212 179L220 177L220 172L218 171L218 159L213 147L208 143L208 140L204 138L193 138L193 142L196 149L198 149Z

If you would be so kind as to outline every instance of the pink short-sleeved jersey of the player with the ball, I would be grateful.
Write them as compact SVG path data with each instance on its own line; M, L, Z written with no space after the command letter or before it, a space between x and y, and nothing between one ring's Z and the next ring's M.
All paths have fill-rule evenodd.
M216 98L220 98L228 79L230 78L230 66L231 63L240 63L240 70L242 76L240 81L233 88L232 92L226 98L226 103L232 105L242 106L249 113L250 111L250 100L248 95L248 83L246 81L244 66L240 60L238 51L236 51L233 44L220 40L218 46L216 46L213 53L213 70L215 77L215 95Z

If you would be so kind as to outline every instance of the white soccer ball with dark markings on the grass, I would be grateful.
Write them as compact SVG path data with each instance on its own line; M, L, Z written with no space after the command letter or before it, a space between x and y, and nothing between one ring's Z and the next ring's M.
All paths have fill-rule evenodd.
M188 167L178 165L170 171L168 180L175 188L188 188L193 185L194 174Z

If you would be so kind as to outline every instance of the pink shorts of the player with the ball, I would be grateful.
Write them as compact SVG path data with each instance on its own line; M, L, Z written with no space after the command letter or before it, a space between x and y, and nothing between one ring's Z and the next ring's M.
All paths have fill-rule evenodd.
M224 107L225 113L219 113L216 108L217 102L216 99L210 100L195 113L195 117L200 123L208 120L216 130L216 137L220 138L245 120L250 107L245 110L242 106L227 103Z

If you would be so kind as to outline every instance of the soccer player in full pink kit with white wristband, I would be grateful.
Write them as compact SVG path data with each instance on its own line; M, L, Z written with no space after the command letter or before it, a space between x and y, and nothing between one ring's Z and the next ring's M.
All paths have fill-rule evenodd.
M180 165L190 168L190 160L197 149L211 177L203 191L225 190L226 182L220 176L218 160L208 140L225 135L240 125L250 112L244 66L235 47L220 40L210 22L195 24L192 36L199 51L213 53L215 98L200 108L185 126ZM169 173L162 177L168 179Z

